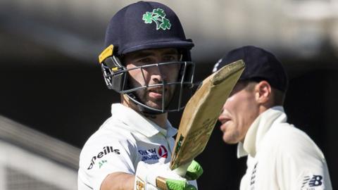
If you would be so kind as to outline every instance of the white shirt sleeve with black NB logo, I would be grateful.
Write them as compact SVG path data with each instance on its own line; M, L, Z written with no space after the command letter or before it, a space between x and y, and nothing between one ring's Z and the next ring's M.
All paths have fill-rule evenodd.
M332 189L323 153L307 134L288 134L280 146L277 172L282 189Z

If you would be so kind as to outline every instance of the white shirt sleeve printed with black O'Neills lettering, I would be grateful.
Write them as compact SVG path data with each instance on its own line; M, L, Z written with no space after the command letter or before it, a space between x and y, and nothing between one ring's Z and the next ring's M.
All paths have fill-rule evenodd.
M134 174L134 149L132 141L122 134L94 134L80 154L79 183L99 190L113 172Z

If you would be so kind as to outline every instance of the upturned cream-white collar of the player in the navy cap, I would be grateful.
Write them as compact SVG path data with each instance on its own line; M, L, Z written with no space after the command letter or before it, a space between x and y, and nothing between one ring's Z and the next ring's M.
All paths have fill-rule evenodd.
M246 132L244 143L239 142L237 146L237 157L256 156L256 152L259 150L261 141L265 136L268 129L275 123L286 122L287 115L284 113L282 106L275 106L265 112L261 113L256 120L253 121L251 126Z

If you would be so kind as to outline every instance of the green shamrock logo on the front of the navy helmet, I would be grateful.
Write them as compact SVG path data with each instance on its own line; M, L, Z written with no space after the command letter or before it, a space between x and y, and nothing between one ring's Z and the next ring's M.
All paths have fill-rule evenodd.
M156 23L156 30L170 30L170 20L165 18L165 13L162 8L156 8L153 12L146 12L143 14L144 23L151 24Z

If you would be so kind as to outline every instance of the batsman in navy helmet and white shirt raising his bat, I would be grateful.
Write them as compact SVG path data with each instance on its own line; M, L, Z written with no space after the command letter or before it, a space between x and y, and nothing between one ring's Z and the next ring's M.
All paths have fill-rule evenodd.
M157 189L156 177L167 179L167 189L196 189L192 176L199 171L181 177L168 168L177 133L168 112L189 99L184 96L193 85L193 46L163 4L139 1L113 16L99 62L121 103L113 103L111 118L84 144L78 189Z

